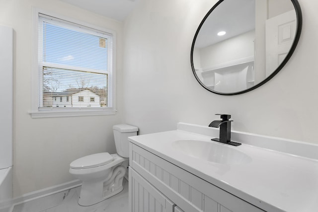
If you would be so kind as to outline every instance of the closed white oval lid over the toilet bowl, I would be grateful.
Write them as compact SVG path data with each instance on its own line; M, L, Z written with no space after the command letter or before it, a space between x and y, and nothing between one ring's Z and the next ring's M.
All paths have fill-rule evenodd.
M74 160L70 166L73 169L85 169L102 166L113 161L114 158L108 152L96 153Z

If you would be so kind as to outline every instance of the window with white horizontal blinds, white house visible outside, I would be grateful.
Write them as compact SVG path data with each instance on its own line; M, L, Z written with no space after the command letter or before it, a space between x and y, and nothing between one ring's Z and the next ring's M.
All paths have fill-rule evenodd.
M37 106L32 117L61 110L65 116L114 114L113 33L37 15ZM57 97L63 102L61 96L68 102L65 108L54 104Z

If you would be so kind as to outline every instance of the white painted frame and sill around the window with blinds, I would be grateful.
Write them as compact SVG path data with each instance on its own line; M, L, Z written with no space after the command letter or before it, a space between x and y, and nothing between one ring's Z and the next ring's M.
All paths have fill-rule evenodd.
M38 8L32 8L32 105L31 114L32 118L47 118L47 117L68 117L68 116L94 116L94 115L114 115L116 114L116 32L99 26L95 26L83 21L79 21L70 17L66 17L60 14L52 13L49 11L43 11ZM97 34L102 33L112 36L112 61L110 66L112 71L108 72L108 107L92 107L92 108L43 108L40 105L40 92L39 86L42 85L42 80L39 69L43 66L40 65L39 59L42 57L39 55L39 30L38 23L41 16L52 17L53 21L63 21L73 23L77 29L82 27L85 29L91 29ZM80 30L79 30L80 31ZM40 58L39 58L40 57ZM109 58L108 58L109 60ZM109 62L109 61L108 61Z

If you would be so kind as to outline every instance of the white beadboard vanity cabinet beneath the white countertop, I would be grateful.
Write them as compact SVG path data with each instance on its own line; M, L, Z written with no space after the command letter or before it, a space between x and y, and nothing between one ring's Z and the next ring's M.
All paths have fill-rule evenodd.
M264 212L130 142L130 212Z

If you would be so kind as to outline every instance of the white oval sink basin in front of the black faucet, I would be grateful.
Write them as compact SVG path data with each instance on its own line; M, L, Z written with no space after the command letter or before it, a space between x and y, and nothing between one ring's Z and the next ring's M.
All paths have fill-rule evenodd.
M188 156L214 163L246 164L252 160L245 153L235 149L237 147L215 141L179 140L174 141L172 145Z

